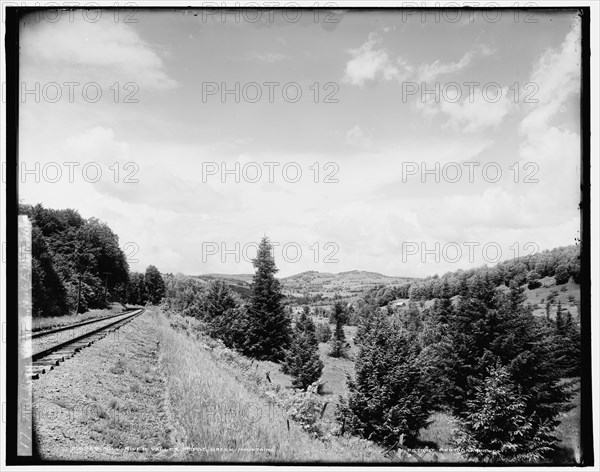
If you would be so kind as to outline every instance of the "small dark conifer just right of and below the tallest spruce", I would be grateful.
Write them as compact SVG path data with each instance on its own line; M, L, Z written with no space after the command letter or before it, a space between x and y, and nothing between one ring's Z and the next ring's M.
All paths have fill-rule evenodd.
M292 386L306 390L319 380L323 361L312 319L303 312L296 323L290 348L286 351L282 372L292 376Z

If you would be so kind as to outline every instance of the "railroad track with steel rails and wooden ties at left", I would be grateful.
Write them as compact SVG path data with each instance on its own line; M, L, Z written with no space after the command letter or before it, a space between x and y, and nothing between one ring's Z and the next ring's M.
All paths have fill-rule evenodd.
M48 348L41 349L34 353L31 356L31 378L38 379L41 374L45 374L46 372L54 369L54 367L60 365L67 359L70 359L83 348L91 346L96 341L104 338L107 334L116 331L121 328L123 325L129 323L135 317L141 315L144 312L144 309L133 310L127 312L125 314L119 313L114 316L109 316L102 318L100 320L92 320L85 321L83 323L77 323L76 325L63 326L56 330L45 331L43 333L35 333L37 336L51 336L56 333L60 333L66 331L68 329L79 328L81 326L89 325L92 323L102 323L103 321L108 321L108 323L102 323L98 327L92 328L90 331L86 331L83 334L78 336L74 336L67 341L59 342L57 344L53 344Z

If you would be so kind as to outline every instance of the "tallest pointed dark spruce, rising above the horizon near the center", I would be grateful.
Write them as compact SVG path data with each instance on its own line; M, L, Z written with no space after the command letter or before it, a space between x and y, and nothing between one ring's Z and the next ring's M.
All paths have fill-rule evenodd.
M271 244L262 238L256 258L252 281L252 297L248 308L247 338L243 350L257 359L280 361L291 341L291 320L283 306L281 286L275 278L277 267Z

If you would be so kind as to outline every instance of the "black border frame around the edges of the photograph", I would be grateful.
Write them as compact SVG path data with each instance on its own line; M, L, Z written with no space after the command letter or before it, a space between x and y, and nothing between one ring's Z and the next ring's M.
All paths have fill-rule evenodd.
M103 10L114 10L115 7L100 7ZM5 57L6 57L6 162L7 162L7 182L6 182L6 313L17 313L18 311L18 136L19 136L19 27L20 20L24 15L40 10L56 10L56 7L6 7L6 36L5 36ZM97 10L96 8L60 8L61 10ZM122 10L131 10L131 7L120 7ZM193 7L193 6L142 6L136 10L214 10L215 7ZM273 10L273 8L243 8L243 7L219 7L219 9L237 10ZM282 9L282 8L276 8ZM296 10L298 8L294 8ZM300 10L313 11L316 8L300 7ZM320 8L330 10L331 8ZM440 8L442 9L442 8ZM594 443L593 443L593 419L592 419L592 336L591 336L591 193L590 193L590 158L591 158L591 85L590 85L590 7L581 7L577 5L561 7L459 7L443 8L444 10L534 10L534 11L560 11L573 10L579 11L581 17L581 101L580 101L580 132L581 132L581 202L579 205L581 213L581 417L580 417L580 445L582 449L581 464L576 466L594 465ZM339 7L336 10L352 11L373 11L373 10L439 10L434 8L414 8L414 7ZM31 457L17 456L18 438L16 434L10 432L17 431L18 411L16 408L10 408L11 405L17 405L18 384L11 382L17 378L17 358L18 358L18 320L14 316L7 316L7 342L6 342L6 400L7 400L7 418L6 418L6 465L24 466L24 465L185 465L185 466L238 466L247 465L287 465L287 466L369 466L369 467L499 467L498 465L487 465L480 463L359 463L359 462L330 462L330 463L310 463L310 462L102 462L102 461L44 461L39 456ZM35 437L33 438L33 447L35 449ZM564 467L568 464L516 464L516 467ZM513 467L515 467L513 466ZM503 467L507 467L504 465ZM510 465L508 467L511 467Z

